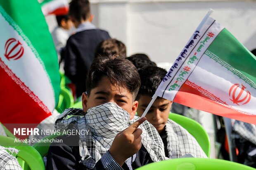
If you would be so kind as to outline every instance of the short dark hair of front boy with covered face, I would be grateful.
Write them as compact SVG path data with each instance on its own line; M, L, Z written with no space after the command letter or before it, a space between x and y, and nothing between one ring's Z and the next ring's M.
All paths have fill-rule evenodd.
M90 66L86 79L88 96L104 76L108 77L111 84L126 88L133 95L133 101L135 100L140 88L140 75L133 63L116 55L96 58Z

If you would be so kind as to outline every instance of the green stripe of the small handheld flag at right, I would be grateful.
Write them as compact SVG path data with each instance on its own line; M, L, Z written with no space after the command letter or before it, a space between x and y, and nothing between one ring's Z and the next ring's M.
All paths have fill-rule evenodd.
M227 29L223 29L206 51L207 56L216 55L222 66L254 86L256 83L256 57L244 47ZM212 53L212 54L209 54ZM213 57L211 57L213 59ZM223 62L222 62L222 61ZM230 65L232 68L230 68ZM234 68L234 69L233 69ZM235 73L235 70L238 72ZM241 74L239 74L242 73ZM247 81L247 77L251 81ZM253 83L253 84L252 84ZM254 87L255 88L255 87Z

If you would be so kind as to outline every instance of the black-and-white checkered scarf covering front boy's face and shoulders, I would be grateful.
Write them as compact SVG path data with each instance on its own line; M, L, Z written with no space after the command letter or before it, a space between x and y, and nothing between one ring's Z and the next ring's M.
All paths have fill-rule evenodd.
M90 135L80 135L79 151L83 164L93 168L101 156L109 150L117 133L140 118L135 116L132 120L129 119L130 114L126 110L109 102L92 107L86 113L82 109L66 109L57 119L55 126L57 129L65 130L71 123L76 123L77 126L73 128L90 130ZM140 128L142 129L141 142L152 161L167 159L164 154L164 144L154 126L145 121Z

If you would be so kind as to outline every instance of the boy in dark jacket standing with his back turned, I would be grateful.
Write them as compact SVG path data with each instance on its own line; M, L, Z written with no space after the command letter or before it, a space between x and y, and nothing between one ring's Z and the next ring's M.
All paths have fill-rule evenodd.
M94 60L96 46L109 39L109 33L97 29L91 22L88 0L72 0L69 4L69 17L77 28L66 43L64 55L65 75L76 85L76 97L82 95L85 89L87 72Z

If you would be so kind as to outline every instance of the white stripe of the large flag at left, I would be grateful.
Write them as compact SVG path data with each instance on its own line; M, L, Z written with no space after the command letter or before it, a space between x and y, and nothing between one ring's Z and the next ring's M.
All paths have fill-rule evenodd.
M17 33L16 30L5 20L5 18L0 14L0 57L2 61L8 66L9 69L14 72L14 74L19 77L19 79L24 82L28 88L33 91L33 93L38 96L38 98L48 107L50 111L55 108L55 97L52 85L50 83L50 78L47 75L47 72L41 65L36 55L33 53L31 47L28 46L29 41L27 37L23 33ZM15 23L13 23L15 24ZM20 29L19 26L15 26L16 29ZM20 30L21 31L21 30ZM21 36L21 35L23 36ZM9 41L14 38L16 41ZM25 39L25 40L24 40ZM22 45L15 48L17 42L20 42ZM7 46L9 47L7 48ZM14 60L14 58L10 58L9 60L5 57L5 54L10 54L9 56L13 56L14 54L21 54L19 50L21 46L24 49L24 53L21 58ZM14 49L11 51L11 49Z

